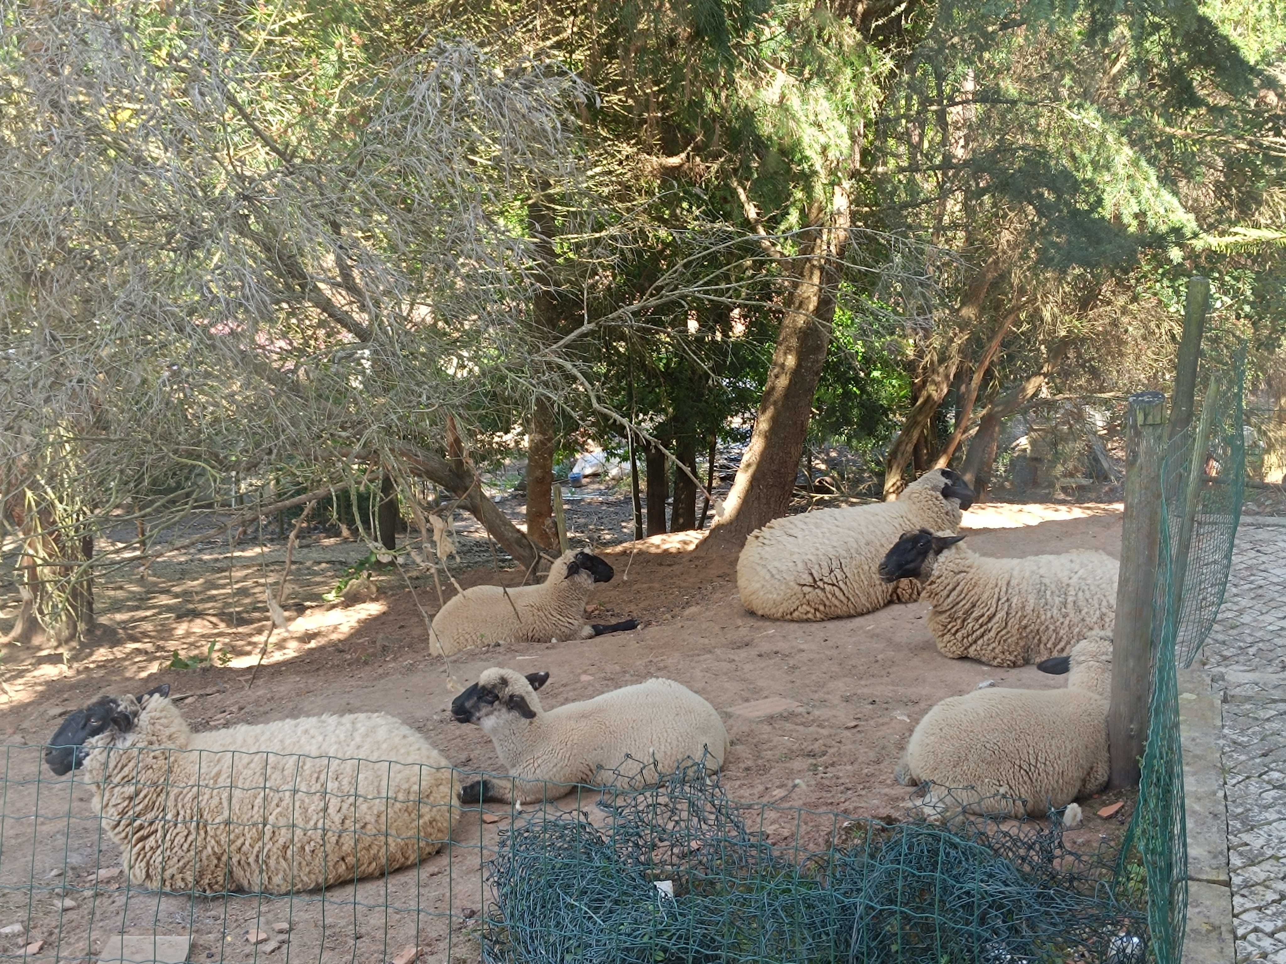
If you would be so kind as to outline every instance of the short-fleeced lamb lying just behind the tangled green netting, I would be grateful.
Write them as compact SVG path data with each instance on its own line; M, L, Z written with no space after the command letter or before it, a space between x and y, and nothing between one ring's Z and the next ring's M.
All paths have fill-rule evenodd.
M548 680L548 672L523 676L496 666L451 702L455 721L481 726L517 778L468 783L462 803L507 803L514 794L520 803L553 799L590 784L599 770L610 772L607 784L639 789L688 760L718 770L728 754L719 713L674 680L651 679L547 712L536 690ZM628 760L640 766L622 767Z

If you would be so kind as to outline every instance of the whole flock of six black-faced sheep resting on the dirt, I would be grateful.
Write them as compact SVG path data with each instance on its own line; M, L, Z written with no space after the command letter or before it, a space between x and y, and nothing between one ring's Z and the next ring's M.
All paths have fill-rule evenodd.
M1118 563L1097 551L980 557L958 532L972 500L957 473L935 469L894 503L777 519L738 559L741 600L760 616L811 621L925 598L944 656L1069 674L1061 690L941 701L916 726L895 778L927 784L926 814L940 814L948 794L975 812L994 812L1001 798L1013 816L1067 807L1065 825L1075 825L1074 801L1107 780ZM432 652L634 629L585 622L592 587L612 576L603 559L571 551L540 585L464 590L435 617ZM73 712L45 760L93 787L135 884L269 893L414 864L450 841L462 803L639 788L688 760L711 771L725 763L719 713L679 683L651 679L547 711L538 692L548 679L493 667L451 703L458 722L491 738L508 779L458 785L421 734L385 713L193 733L168 686Z

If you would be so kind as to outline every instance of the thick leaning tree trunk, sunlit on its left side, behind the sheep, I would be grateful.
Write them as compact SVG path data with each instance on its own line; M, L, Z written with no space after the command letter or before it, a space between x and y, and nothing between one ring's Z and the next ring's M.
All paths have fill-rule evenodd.
M768 370L755 431L715 519L702 542L703 551L736 551L746 537L790 508L799 473L813 393L817 389L835 320L840 258L847 244L847 193L835 189L828 211L814 207L800 254L792 258L792 284Z

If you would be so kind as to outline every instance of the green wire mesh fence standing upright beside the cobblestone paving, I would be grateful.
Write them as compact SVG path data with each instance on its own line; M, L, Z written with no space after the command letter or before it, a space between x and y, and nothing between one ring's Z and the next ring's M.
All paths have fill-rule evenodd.
M1187 920L1187 825L1177 670L1210 635L1232 567L1245 482L1244 361L1211 379L1201 416L1161 464L1161 539L1152 605L1152 693L1138 806L1123 852L1147 874L1157 964L1179 964Z

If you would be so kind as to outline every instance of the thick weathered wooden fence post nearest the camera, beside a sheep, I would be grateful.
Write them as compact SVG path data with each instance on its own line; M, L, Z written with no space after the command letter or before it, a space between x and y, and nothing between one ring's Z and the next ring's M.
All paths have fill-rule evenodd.
M1125 518L1112 632L1112 697L1107 713L1111 756L1109 787L1137 787L1147 736L1152 661L1152 600L1161 536L1161 460L1165 455L1165 396L1129 397L1125 449Z

